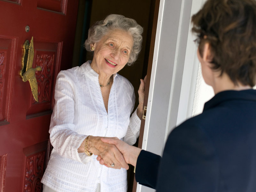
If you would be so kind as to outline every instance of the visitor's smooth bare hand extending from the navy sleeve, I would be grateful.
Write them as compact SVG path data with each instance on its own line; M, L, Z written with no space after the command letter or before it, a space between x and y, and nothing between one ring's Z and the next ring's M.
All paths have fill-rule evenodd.
M108 144L114 144L120 152L124 156L124 160L127 164L132 164L133 166L136 166L137 158L140 155L140 148L128 145L124 141L118 139L117 137L102 137L101 141L108 143ZM105 159L102 156L98 156L97 160L100 161L100 164L105 164Z

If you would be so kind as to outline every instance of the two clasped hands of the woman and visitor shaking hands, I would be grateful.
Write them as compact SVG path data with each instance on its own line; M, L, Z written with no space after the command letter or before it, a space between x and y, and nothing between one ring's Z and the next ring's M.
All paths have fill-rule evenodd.
M128 164L136 166L140 148L128 145L117 137L90 137L88 151L97 155L101 165L114 169L129 169Z

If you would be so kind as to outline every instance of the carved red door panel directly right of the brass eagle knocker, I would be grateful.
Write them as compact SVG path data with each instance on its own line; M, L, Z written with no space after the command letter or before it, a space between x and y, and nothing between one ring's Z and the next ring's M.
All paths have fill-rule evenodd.
M34 39L35 56L33 68L40 66L42 71L36 71L38 84L38 102L35 101L32 92L28 102L27 118L36 113L49 113L54 105L53 90L54 77L60 70L61 42L40 42ZM28 84L28 89L30 86Z

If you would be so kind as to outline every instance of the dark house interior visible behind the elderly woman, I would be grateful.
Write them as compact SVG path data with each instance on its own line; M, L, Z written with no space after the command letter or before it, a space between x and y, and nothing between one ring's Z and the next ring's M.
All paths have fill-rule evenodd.
M155 2L156 0L79 0L76 29L73 29L76 30L72 62L72 66L75 67L82 65L87 60L92 60L92 54L84 49L83 44L87 39L88 29L96 21L103 20L112 13L121 14L136 20L143 27L142 50L138 59L132 66L125 66L118 72L118 74L126 77L134 87L136 94L135 109L138 106L140 79L143 79L147 74ZM132 191L134 177L132 166L128 170L127 177L128 191Z

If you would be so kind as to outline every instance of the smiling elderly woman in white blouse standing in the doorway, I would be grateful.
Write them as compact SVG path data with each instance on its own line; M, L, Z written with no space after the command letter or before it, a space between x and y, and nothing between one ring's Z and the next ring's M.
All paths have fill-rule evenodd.
M144 81L139 106L131 116L134 89L117 72L136 60L142 31L133 19L107 16L89 29L85 47L93 52L92 61L58 74L44 192L127 191L128 164L114 145L100 138L117 137L132 145L139 136ZM105 159L106 166L97 162L96 155Z

